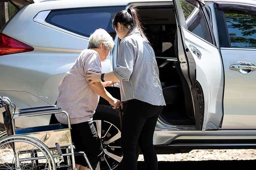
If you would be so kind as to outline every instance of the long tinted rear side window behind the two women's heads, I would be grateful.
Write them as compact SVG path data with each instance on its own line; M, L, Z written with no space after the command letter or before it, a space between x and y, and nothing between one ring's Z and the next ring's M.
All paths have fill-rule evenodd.
M89 37L96 29L106 30L112 37L112 18L124 7L80 8L52 11L46 22L70 32Z

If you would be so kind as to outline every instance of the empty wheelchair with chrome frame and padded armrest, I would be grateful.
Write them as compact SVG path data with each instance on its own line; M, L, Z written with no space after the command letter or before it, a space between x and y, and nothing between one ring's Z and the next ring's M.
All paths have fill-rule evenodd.
M10 141L23 141L28 142L38 152L42 152L44 156L31 157L28 161L39 160L45 158L48 163L48 169L56 170L56 168L68 167L68 169L77 170L75 168L75 159L74 156L83 156L87 162L89 168L93 170L86 154L84 152L74 152L74 148L71 140L71 126L70 126L70 117L66 111L61 110L61 108L56 107L56 105L43 106L43 107L31 107L19 109L18 112L15 112L14 106L11 100L8 97L0 97L0 107L5 107L5 117L8 119L8 127L6 127L5 121L5 132L0 133L0 147L3 146L6 142ZM68 128L63 129L59 128L58 125L45 125L45 126L35 126L31 128L19 128L15 127L15 119L31 116L41 116L49 114L60 114L64 113L67 116ZM11 118L11 119L10 119ZM11 125L11 127L10 127ZM61 125L62 126L62 125ZM56 128L57 127L57 128ZM63 127L63 126L62 126ZM48 130L47 130L48 128ZM44 130L46 129L46 130ZM11 133L10 133L11 131ZM14 146L14 150L22 150L24 146ZM40 149L41 148L41 149ZM61 149L66 149L66 153L61 152ZM58 154L53 154L53 151L58 152ZM64 162L64 158L67 157L67 165L60 165L61 162ZM71 157L71 160L70 160ZM19 157L17 156L17 166L19 163ZM57 162L55 163L55 159ZM32 164L32 163L31 163ZM51 164L51 165L50 165ZM57 166L56 166L57 164ZM20 169L17 168L16 169Z

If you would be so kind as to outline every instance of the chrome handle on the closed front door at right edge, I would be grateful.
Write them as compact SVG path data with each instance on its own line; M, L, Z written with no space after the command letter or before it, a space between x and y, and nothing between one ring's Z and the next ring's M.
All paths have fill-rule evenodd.
M250 62L232 62L229 68L242 74L250 74L256 70L256 65Z

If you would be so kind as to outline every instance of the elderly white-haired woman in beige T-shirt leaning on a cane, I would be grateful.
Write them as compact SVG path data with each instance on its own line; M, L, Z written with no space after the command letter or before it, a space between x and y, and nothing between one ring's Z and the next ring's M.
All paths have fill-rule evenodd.
M57 107L61 107L70 115L72 141L77 151L83 151L94 167L103 152L101 141L93 124L93 115L99 102L99 96L109 101L113 108L122 103L113 98L101 82L89 84L87 71L101 73L101 63L114 46L112 37L103 29L91 34L88 49L81 52L73 66L59 84ZM56 114L57 120L67 127L65 115ZM76 157L76 168L86 170L87 164L83 157Z

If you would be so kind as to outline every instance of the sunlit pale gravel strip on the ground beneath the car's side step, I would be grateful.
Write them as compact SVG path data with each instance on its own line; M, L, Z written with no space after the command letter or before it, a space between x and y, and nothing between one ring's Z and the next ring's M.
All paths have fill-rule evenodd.
M158 161L202 161L202 160L255 160L256 149L234 150L192 150L189 153L157 155ZM143 161L143 155L139 155L138 161Z

